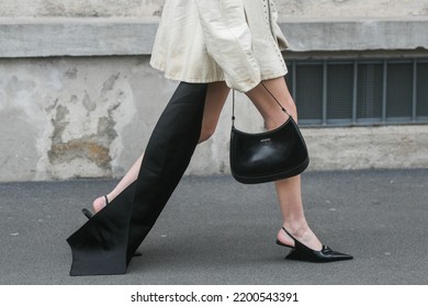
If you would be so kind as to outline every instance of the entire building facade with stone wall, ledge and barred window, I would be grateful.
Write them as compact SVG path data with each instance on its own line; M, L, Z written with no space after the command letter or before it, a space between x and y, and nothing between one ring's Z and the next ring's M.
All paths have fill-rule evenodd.
M148 64L162 3L2 0L0 181L124 174L177 87ZM275 3L311 169L427 168L428 0ZM188 174L229 172L230 113Z

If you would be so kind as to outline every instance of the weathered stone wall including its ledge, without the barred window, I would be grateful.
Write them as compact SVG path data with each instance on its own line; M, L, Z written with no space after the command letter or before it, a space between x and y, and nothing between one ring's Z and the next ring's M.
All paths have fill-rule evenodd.
M148 65L162 3L1 1L0 181L124 174L177 86ZM292 50L406 49L428 57L427 0L277 0L277 5ZM250 103L238 101L249 114L239 125L261 129ZM230 111L228 103L188 173L229 172ZM303 134L313 170L428 167L428 125Z

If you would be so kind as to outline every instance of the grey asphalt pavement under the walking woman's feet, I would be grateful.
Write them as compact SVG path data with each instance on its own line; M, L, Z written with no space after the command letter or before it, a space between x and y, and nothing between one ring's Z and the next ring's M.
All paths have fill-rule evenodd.
M328 264L284 260L273 184L185 177L116 276L69 276L66 238L81 207L115 180L0 184L0 284L426 285L428 170L306 172L306 217L322 241L354 255Z

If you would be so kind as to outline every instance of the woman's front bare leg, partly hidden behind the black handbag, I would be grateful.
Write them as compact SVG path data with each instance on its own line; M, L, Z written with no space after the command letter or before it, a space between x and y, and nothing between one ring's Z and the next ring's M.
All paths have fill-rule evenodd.
M294 101L288 90L284 78L263 81L263 84L272 92L278 101L288 110L289 114L297 122L297 111ZM254 102L262 115L268 129L282 125L288 115L283 113L269 92L259 84L247 92L248 98ZM302 202L301 177L296 175L275 182L278 200L282 212L283 226L301 242L314 250L320 250L322 243L307 225ZM278 239L289 246L294 246L283 230L278 232Z

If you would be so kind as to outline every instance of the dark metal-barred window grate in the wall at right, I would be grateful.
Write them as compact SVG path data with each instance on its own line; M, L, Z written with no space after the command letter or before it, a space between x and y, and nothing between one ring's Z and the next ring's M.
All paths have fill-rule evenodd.
M286 81L301 125L428 124L428 58L292 60Z

